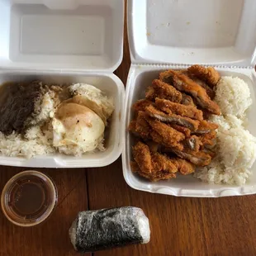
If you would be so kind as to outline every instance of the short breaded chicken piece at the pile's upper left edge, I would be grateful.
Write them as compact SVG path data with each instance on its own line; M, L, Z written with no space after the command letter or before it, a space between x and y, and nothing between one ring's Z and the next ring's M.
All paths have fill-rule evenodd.
M173 86L164 83L158 79L154 79L152 85L149 86L145 97L150 101L153 101L155 97L166 98L171 102L181 102L183 96L181 92L178 92Z

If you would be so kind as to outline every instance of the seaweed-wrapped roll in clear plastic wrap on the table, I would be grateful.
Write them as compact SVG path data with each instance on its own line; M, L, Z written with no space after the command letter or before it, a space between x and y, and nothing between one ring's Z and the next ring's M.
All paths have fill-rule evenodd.
M69 229L74 249L80 253L146 244L150 239L149 219L137 207L81 211Z

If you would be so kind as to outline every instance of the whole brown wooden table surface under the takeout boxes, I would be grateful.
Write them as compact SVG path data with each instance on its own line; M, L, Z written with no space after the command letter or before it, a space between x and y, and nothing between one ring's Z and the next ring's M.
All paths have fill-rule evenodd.
M125 29L124 59L116 70L123 83L129 68ZM22 170L0 167L0 191ZM256 255L256 196L183 198L135 191L123 178L121 158L106 168L40 171L54 179L58 206L49 220L33 228L12 225L0 211L1 256L79 255L69 242L69 226L78 211L115 206L138 206L145 211L150 242L92 255Z

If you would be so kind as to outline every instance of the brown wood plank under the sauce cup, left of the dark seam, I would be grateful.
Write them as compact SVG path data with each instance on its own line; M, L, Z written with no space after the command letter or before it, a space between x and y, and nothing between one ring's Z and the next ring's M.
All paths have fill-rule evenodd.
M21 168L0 167L0 191ZM0 211L1 256L72 256L77 255L69 240L69 227L78 211L87 209L84 169L40 169L58 189L58 204L48 220L32 228L12 225ZM90 255L90 254L87 254Z

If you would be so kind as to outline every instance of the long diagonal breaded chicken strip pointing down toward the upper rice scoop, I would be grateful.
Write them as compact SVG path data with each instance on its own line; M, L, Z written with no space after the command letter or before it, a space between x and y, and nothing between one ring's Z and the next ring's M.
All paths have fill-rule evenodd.
M206 108L213 114L220 115L220 107L216 102L211 101L207 95L206 90L195 83L191 78L188 78L183 73L178 73L173 70L168 70L160 73L160 79L165 83L172 84L181 92L186 92L195 98L197 104L202 108Z

